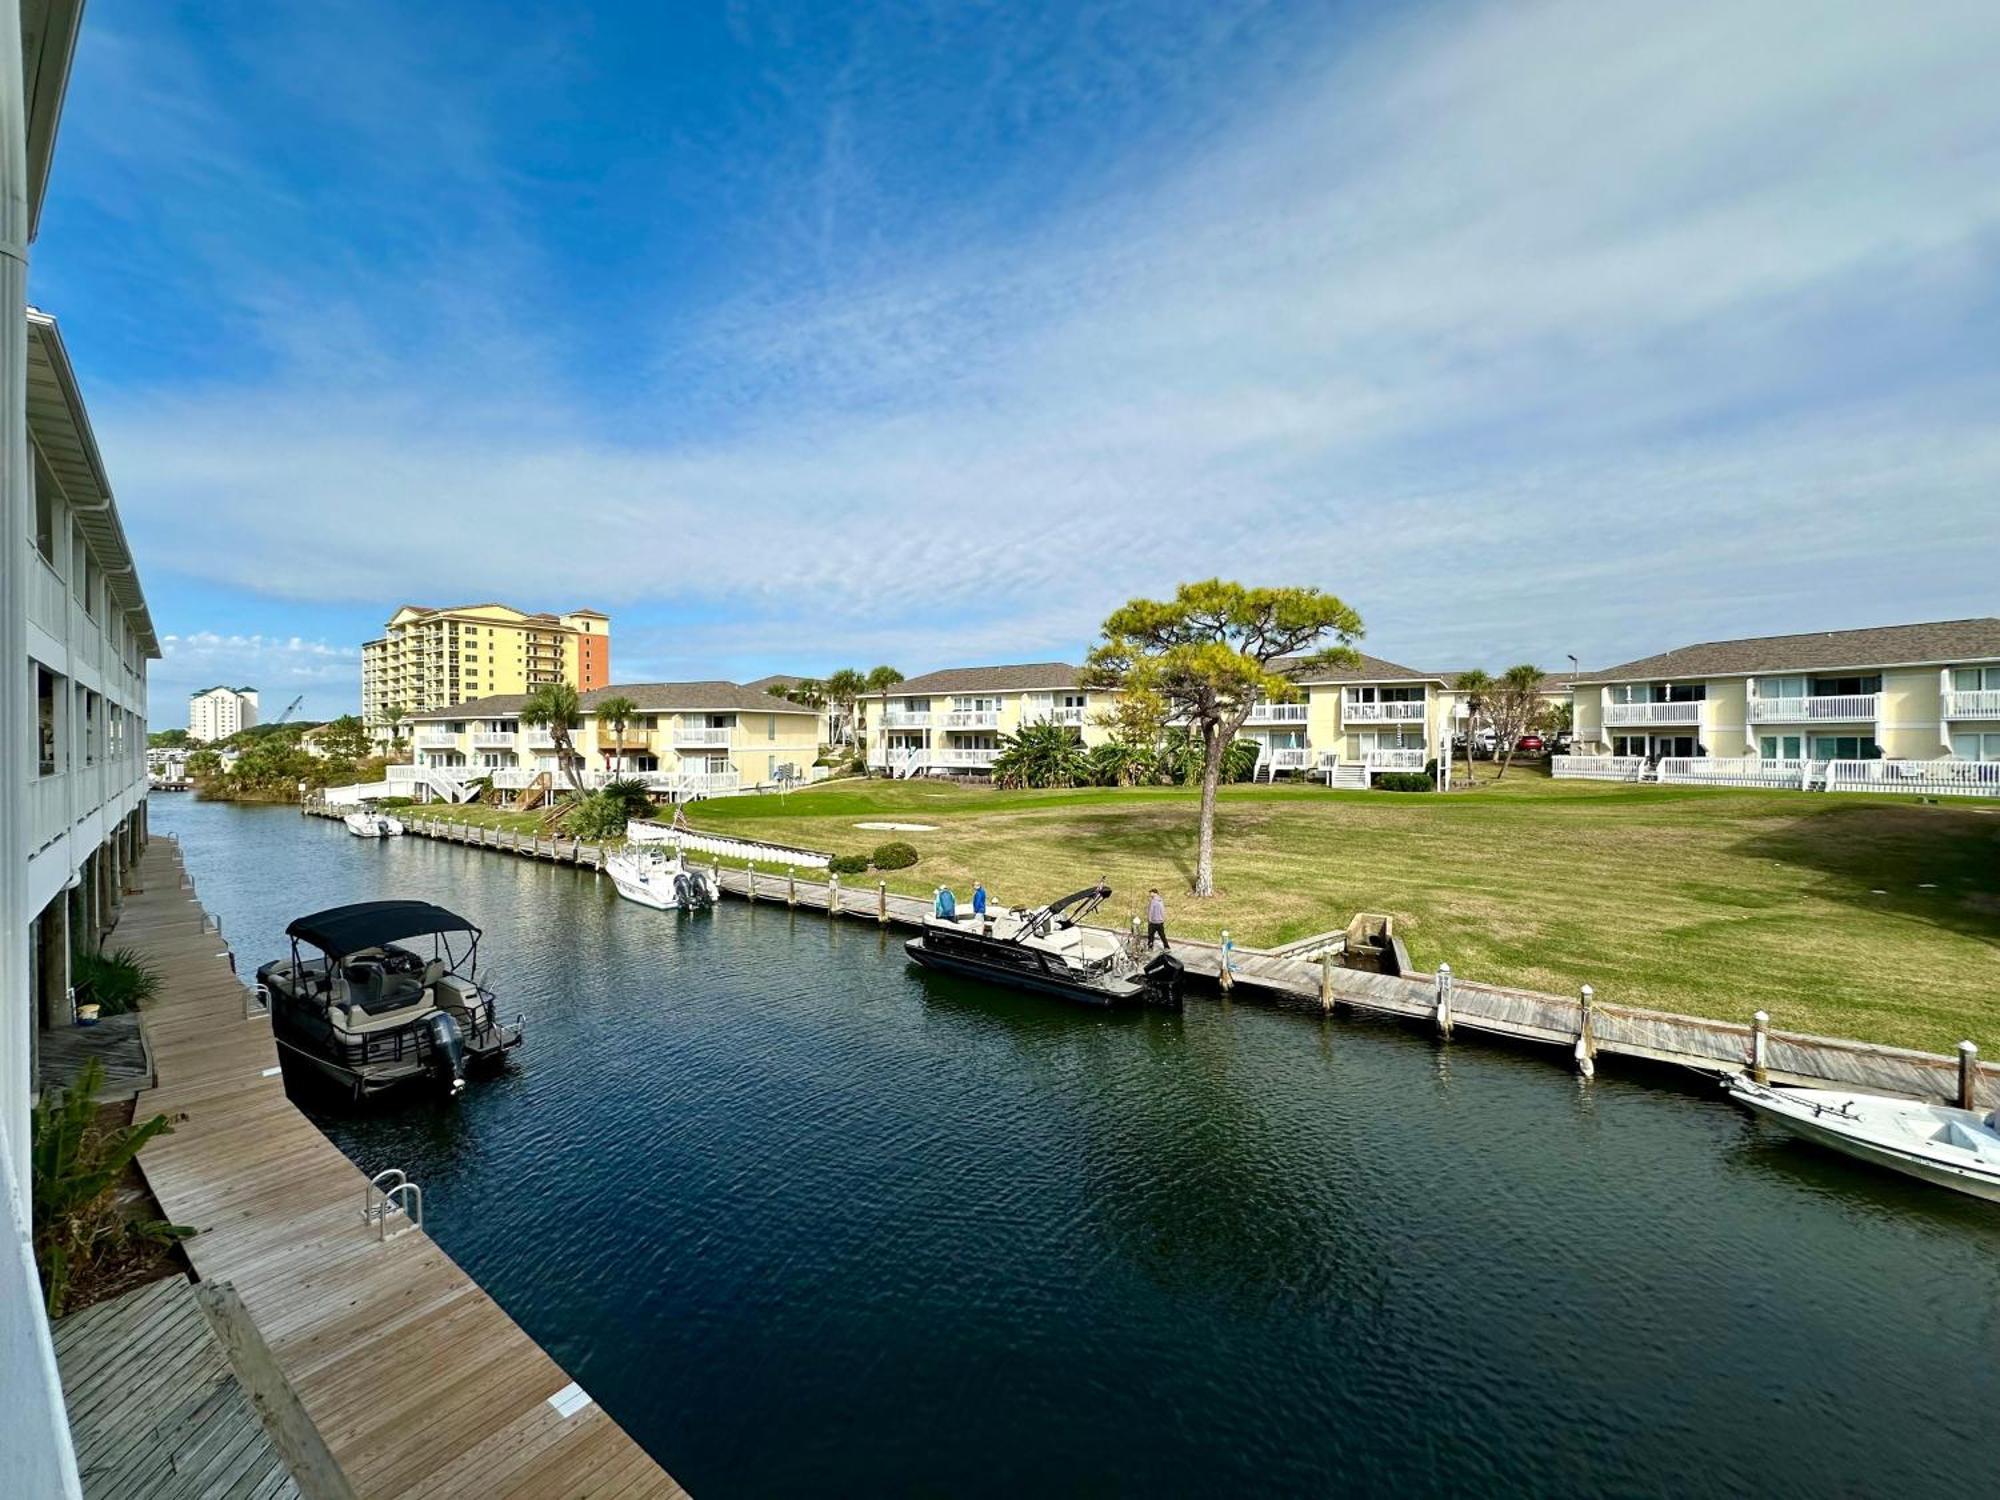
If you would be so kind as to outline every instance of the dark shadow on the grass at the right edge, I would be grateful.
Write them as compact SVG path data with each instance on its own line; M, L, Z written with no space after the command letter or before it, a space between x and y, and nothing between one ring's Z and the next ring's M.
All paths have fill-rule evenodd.
M2000 806L1818 802L1730 850L1810 870L1820 900L2000 946Z

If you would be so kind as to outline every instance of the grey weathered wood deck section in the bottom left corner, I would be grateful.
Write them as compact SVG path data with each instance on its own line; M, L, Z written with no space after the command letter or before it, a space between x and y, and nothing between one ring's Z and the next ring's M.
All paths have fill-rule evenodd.
M184 1276L54 1326L84 1500L280 1500L298 1484Z

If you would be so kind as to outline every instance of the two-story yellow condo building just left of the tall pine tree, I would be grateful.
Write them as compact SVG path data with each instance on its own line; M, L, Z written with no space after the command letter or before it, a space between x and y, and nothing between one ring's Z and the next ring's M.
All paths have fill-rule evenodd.
M1000 736L1024 724L1066 724L1084 744L1106 738L1096 716L1110 692L1080 686L1070 662L956 666L898 682L856 702L856 736L868 766L892 776L982 774L1000 754Z

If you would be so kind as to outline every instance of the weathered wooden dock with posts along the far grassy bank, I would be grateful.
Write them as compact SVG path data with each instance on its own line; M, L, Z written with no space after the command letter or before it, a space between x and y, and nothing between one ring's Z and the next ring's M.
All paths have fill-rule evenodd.
M340 816L338 810L308 808L308 812ZM418 838L520 858L588 870L604 866L604 850L598 844L574 838L510 834L412 816L404 816L404 828ZM712 874L728 896L872 920L882 926L918 928L930 914L930 902L900 896L864 876L856 878L858 884L844 886L838 878L800 878L784 868L742 870L716 864ZM1222 986L1220 944L1176 936L1174 952L1190 976L1212 988ZM1616 976L1606 978L1616 982ZM1780 1084L1854 1088L1978 1108L2000 1104L2000 1066L1980 1062L1976 1056L1944 1058L1872 1042L1780 1032L1768 1024L1760 1026L1752 1016L1726 1022L1622 1006L1598 994L1542 994L1458 976L1446 984L1440 974L1370 974L1342 968L1338 962L1312 962L1256 948L1230 950L1230 992L1328 1014L1344 1008L1392 1016L1444 1036L1464 1030L1560 1048L1582 1072L1592 1072L1598 1058L1610 1056L1724 1074L1752 1068L1762 1056L1760 1072Z

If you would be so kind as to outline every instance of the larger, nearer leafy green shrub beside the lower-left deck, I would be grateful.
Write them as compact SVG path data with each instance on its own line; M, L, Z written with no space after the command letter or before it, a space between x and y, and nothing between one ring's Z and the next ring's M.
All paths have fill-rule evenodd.
M34 1264L42 1272L48 1316L62 1314L70 1278L98 1256L132 1240L170 1244L194 1230L164 1218L126 1218L118 1176L154 1136L172 1134L164 1114L144 1124L94 1130L104 1064L96 1058L62 1094L42 1094L30 1122L30 1202L34 1204Z

